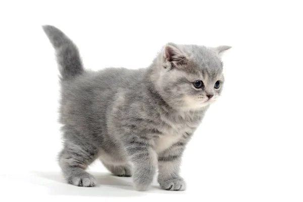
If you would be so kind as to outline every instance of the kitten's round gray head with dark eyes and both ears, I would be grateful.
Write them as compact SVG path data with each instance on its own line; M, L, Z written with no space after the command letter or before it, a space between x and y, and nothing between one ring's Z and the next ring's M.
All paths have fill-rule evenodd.
M164 46L151 75L156 89L173 108L196 110L215 102L224 85L223 52L229 46Z

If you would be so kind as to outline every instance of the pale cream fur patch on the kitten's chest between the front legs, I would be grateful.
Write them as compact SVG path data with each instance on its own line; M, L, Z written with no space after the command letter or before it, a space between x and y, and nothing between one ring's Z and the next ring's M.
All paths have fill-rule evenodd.
M155 149L157 153L164 151L165 149L178 142L182 134L178 135L164 135L155 140Z

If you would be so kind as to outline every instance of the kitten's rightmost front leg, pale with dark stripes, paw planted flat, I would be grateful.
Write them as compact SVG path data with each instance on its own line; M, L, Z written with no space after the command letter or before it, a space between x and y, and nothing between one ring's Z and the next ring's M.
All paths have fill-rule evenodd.
M183 191L186 188L185 181L179 176L181 155L184 143L178 142L165 152L159 154L158 182L162 189Z

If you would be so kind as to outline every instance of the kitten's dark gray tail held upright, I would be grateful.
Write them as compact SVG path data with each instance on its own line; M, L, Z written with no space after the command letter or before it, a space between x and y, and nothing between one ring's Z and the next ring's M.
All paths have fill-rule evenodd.
M43 25L42 28L56 50L61 79L70 79L82 74L84 72L82 60L78 48L71 39L55 26Z

